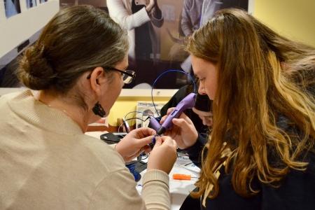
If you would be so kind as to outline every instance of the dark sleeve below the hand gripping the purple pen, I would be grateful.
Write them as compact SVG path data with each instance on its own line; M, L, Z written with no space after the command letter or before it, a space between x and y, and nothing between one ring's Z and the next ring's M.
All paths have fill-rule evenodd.
M193 146L190 146L190 148L186 148L185 151L186 153L188 153L189 159L195 164L197 165L197 167L202 166L202 150L204 148L204 146L207 143L207 138L202 137L199 133L198 133L198 137L197 137L197 141ZM207 155L207 148L206 151L204 153L204 155Z

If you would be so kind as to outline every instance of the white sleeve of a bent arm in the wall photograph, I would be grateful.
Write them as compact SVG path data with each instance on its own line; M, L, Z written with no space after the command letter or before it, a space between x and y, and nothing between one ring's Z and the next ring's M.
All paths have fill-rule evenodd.
M146 8L142 8L137 13L132 14L131 11L127 10L123 1L117 0L107 0L107 7L111 18L128 31L150 21Z

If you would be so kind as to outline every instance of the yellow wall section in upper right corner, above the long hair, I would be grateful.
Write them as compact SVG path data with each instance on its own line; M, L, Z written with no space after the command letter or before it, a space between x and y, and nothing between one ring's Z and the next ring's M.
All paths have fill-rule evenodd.
M279 34L315 47L314 0L254 0L253 15Z

